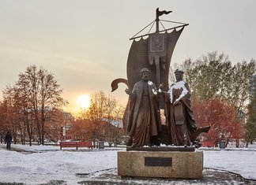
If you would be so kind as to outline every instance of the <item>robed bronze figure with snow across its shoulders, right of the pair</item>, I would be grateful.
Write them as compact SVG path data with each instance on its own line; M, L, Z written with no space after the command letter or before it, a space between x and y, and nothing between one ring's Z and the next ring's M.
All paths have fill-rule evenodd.
M190 146L201 132L209 131L209 127L196 126L191 109L190 87L183 81L182 70L175 70L175 79L168 93L164 93L168 133L173 145Z

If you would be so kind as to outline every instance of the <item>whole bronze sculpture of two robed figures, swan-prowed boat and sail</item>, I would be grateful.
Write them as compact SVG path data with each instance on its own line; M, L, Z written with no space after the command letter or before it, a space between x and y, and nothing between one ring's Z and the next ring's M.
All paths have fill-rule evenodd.
M144 28L131 38L133 43L127 60L127 79L119 78L111 83L112 91L119 87L119 83L125 83L128 89L133 89L133 91L126 91L130 96L122 117L123 128L130 136L127 146L151 146L152 144L159 145L159 142L167 145L190 145L190 142L194 142L201 132L209 130L209 128L195 126L190 109L190 90L188 85L183 82L183 72L177 72L176 77L179 80L167 92L171 56L179 35L188 25L175 22L179 25L160 31L159 17L168 13L171 11L156 9L156 20L152 22L156 22L156 32L137 36ZM145 38L144 36L149 37ZM145 73L150 73L152 82L149 79L143 79L145 76L141 68ZM141 73L142 80L137 75L139 73ZM181 74L181 79L178 73ZM183 83L184 91L176 89L175 84L178 83ZM166 92L164 98L163 96L158 97L159 92L156 91L156 87L160 86L163 92ZM143 91L144 87L148 87L149 91ZM146 96L142 94L145 92L148 93ZM165 101L170 94L172 98ZM165 109L167 126L160 123L160 109Z

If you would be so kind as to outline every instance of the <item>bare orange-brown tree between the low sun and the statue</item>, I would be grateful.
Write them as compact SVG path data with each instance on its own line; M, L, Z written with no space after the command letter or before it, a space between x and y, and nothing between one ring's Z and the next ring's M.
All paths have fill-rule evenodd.
M119 143L125 134L122 129L122 115L125 107L118 100L103 91L91 95L90 106L79 113L72 125L73 133L81 138L104 139L111 145Z

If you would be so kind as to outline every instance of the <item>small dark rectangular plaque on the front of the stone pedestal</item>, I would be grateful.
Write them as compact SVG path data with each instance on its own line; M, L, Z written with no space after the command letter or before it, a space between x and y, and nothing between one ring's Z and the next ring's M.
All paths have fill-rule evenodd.
M171 157L145 157L145 166L171 166Z

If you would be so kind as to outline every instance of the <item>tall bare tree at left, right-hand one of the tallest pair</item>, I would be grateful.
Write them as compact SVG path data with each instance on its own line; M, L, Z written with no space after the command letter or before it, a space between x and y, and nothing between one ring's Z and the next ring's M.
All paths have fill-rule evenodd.
M59 89L59 84L50 72L42 67L37 69L36 65L28 66L26 71L20 74L18 83L27 84L30 92L28 103L32 105L32 113L40 143L44 144L44 126L45 122L50 119L48 114L51 113L53 107L59 107L67 103L61 97L62 89Z

